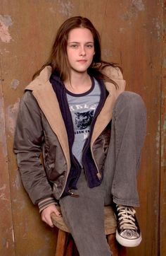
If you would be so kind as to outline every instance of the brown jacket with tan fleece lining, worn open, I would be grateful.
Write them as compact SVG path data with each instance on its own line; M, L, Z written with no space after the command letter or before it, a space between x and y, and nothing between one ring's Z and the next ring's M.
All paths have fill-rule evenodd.
M113 106L118 95L125 90L125 80L120 69L109 66L104 70L117 83L118 88L113 83L103 84L108 96L94 119L87 153L84 154L86 161L86 156L91 155L94 173L96 172L95 178L94 173L87 170L89 187L99 185L102 180ZM40 211L55 204L56 199L60 199L62 195L70 194L70 187L67 185L72 170L69 134L54 90L55 84L52 86L52 81L50 82L51 71L51 66L46 66L25 88L14 138L14 151L23 185L32 202L39 205ZM102 83L101 81L101 86ZM87 168L89 167L91 164Z

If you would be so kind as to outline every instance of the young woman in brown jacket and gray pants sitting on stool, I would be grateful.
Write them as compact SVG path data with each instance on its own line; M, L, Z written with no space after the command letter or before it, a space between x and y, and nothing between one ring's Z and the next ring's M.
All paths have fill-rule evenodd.
M141 243L134 206L146 109L124 90L120 68L101 59L94 25L76 16L60 26L49 61L20 103L14 149L23 185L51 227L60 204L81 256L111 254L106 204L115 209L117 241Z

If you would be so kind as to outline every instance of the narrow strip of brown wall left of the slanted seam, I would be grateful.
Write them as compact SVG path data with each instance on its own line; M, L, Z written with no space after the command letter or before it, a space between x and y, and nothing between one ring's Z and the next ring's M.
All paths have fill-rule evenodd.
M0 84L0 255L15 255L11 190L8 175L8 151L5 129L4 98Z

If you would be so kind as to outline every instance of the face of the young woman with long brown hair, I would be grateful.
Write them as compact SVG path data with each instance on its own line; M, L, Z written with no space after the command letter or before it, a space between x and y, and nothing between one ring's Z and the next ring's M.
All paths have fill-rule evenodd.
M67 56L70 69L85 73L94 57L94 38L87 28L74 28L68 35Z

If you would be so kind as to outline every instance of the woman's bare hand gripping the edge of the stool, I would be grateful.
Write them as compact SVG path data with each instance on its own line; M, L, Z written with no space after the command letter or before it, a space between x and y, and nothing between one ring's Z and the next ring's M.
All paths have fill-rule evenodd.
M56 216L60 217L60 212L56 209L55 204L51 204L41 212L41 220L46 222L51 228L53 228L53 222L51 220L51 214L55 213Z

